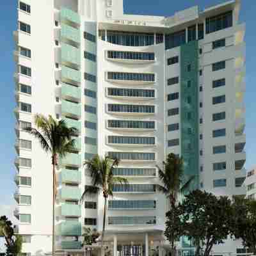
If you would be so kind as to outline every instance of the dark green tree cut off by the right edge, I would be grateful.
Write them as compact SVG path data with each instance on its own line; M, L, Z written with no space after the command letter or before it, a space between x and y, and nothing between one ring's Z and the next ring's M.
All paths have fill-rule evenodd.
M256 255L256 201L235 198L232 210L232 235Z

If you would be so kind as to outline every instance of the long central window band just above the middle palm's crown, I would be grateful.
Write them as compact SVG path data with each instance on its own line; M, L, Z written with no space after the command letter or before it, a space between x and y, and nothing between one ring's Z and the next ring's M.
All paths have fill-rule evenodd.
M137 153L137 152L108 152L108 156L113 159L120 160L142 160L142 161L154 161L156 160L155 153Z

